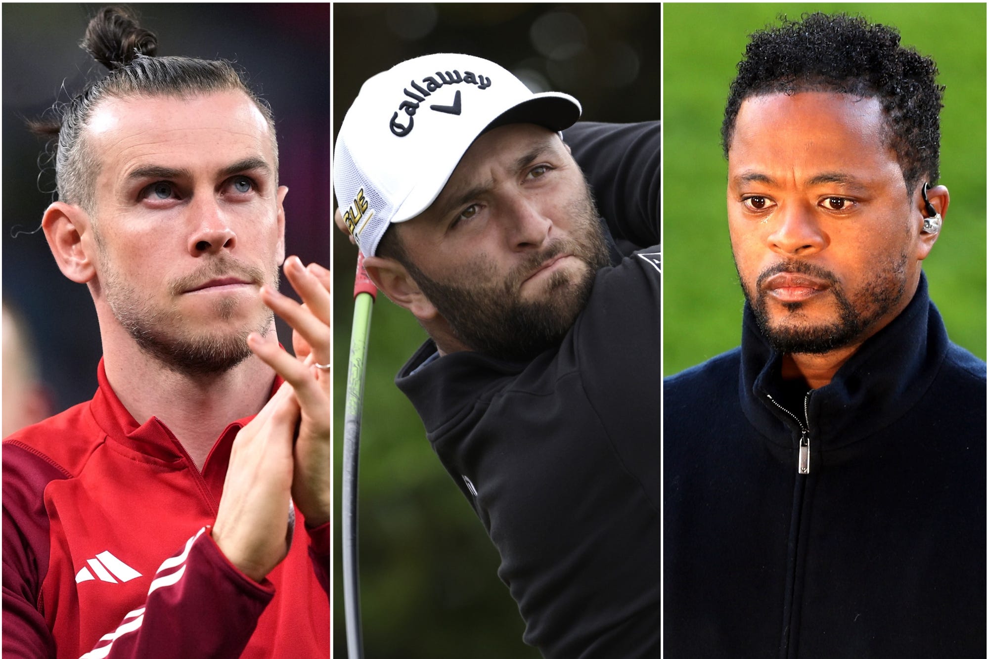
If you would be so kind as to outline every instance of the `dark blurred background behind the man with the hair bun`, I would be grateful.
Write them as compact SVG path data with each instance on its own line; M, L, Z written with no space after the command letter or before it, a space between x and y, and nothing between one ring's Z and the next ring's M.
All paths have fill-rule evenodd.
M92 299L65 279L41 224L53 172L39 179L44 142L24 127L106 69L78 47L102 4L3 5L3 295L23 310L55 412L88 400L102 353ZM158 54L225 58L271 104L280 147L287 253L329 264L329 5L134 4ZM43 190L45 192L43 192ZM291 291L283 278L282 290ZM291 332L278 335L291 349Z

